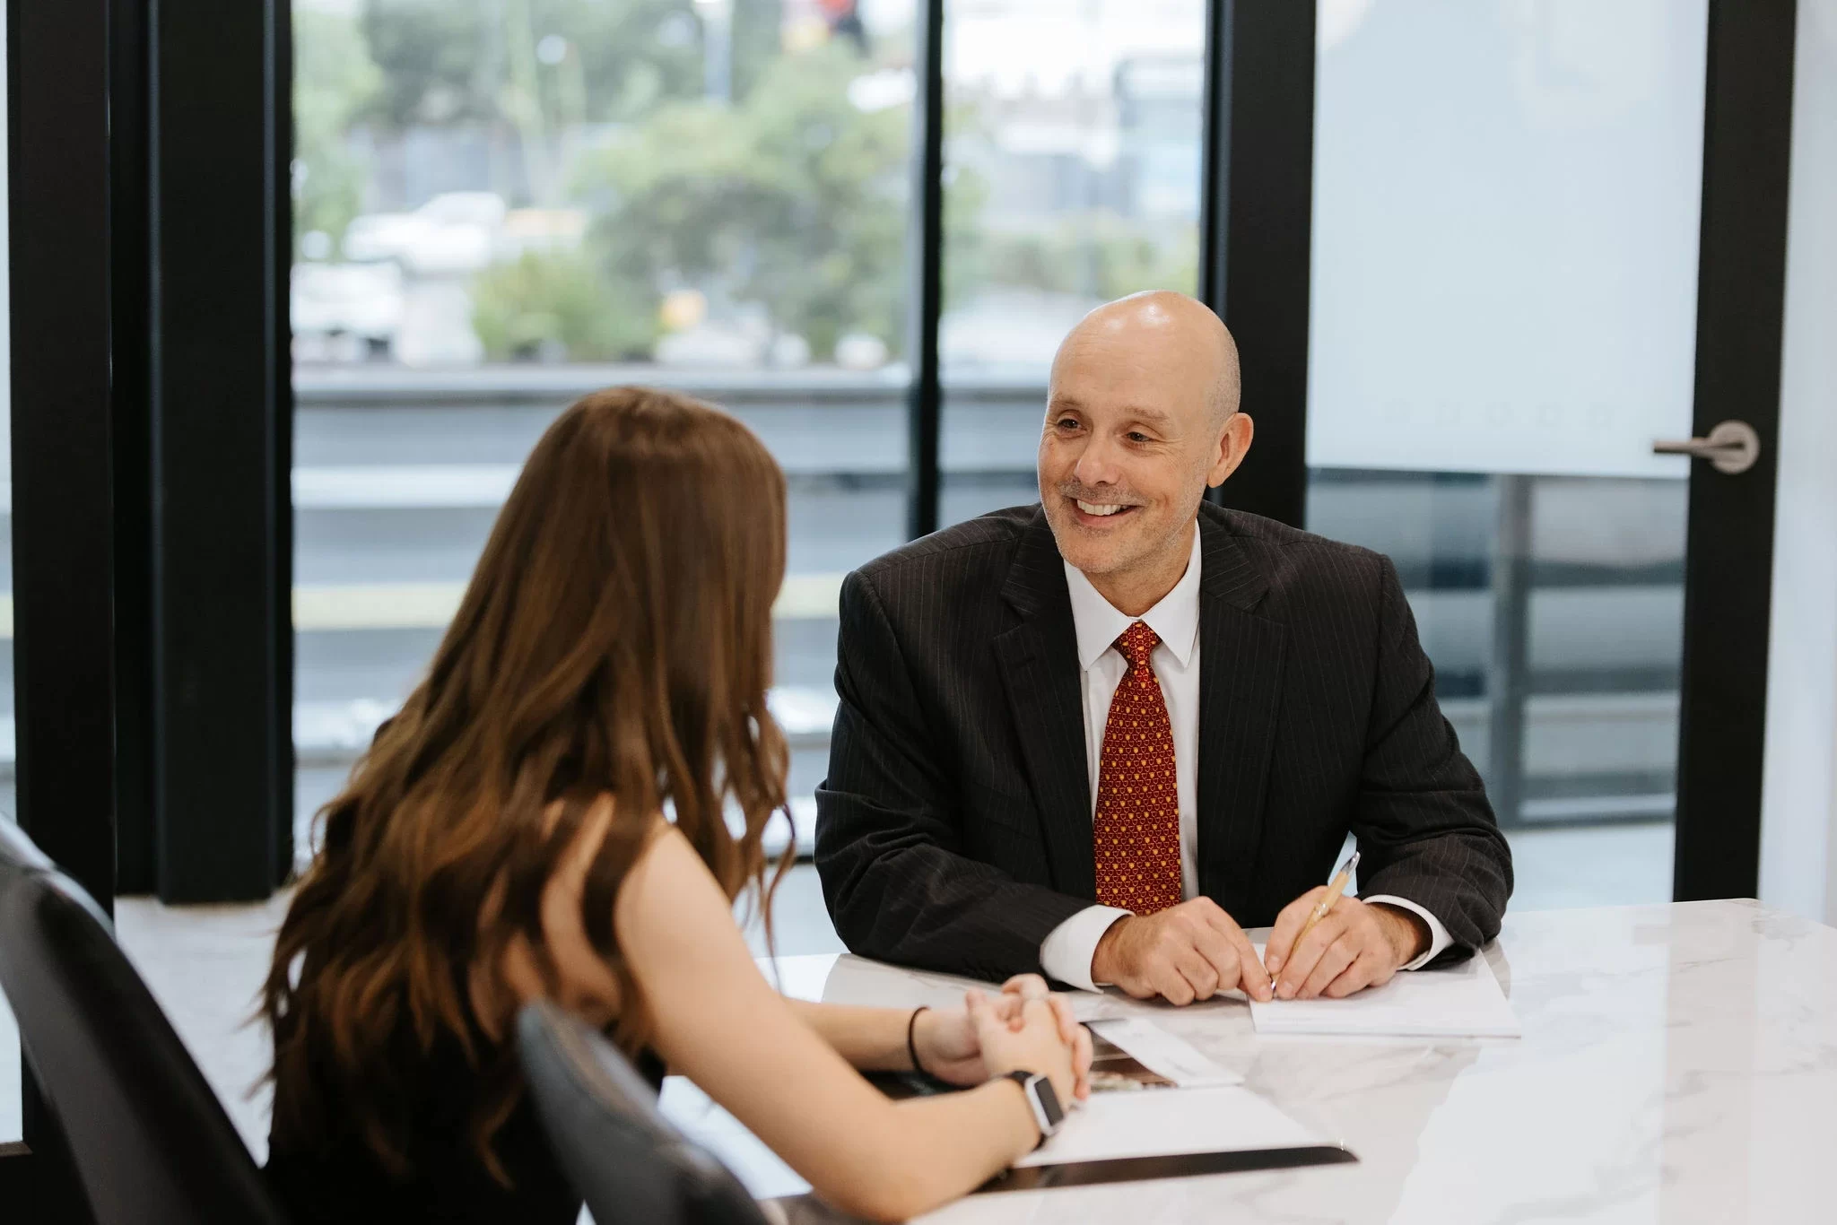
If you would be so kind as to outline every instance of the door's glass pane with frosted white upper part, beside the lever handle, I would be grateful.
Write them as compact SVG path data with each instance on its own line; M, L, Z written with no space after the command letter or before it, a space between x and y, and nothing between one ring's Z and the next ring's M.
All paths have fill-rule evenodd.
M1308 525L1396 560L1519 907L1670 900L1705 29L1319 6Z

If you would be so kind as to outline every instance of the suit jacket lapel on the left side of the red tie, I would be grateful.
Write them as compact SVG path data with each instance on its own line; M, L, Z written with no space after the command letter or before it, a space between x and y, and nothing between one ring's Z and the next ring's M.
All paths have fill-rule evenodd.
M1075 898L1095 898L1078 635L1065 566L1043 511L1021 536L1001 597L1020 615L1020 624L996 635L996 659L1040 812L1053 887Z

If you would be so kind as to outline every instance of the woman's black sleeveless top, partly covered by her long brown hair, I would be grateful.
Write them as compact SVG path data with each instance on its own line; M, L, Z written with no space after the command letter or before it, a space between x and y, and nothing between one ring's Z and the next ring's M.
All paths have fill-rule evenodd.
M294 1225L575 1225L580 1196L555 1163L529 1093L492 1141L498 1163L511 1175L511 1186L503 1186L472 1148L479 1076L459 1041L443 1036L430 1056L417 1054L415 1062L421 1067L410 1080L413 1100L402 1102L410 1118L406 1177L389 1174L355 1129L312 1152L270 1133L265 1174L288 1219ZM663 1085L663 1062L650 1051L636 1063L652 1087ZM283 1104L283 1093L276 1085L276 1106Z

